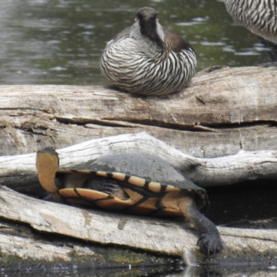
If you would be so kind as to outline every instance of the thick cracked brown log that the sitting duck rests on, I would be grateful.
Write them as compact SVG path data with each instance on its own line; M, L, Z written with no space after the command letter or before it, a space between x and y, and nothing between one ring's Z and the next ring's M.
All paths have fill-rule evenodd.
M0 86L0 154L146 131L195 157L277 150L276 67L195 75L161 98L96 86Z

